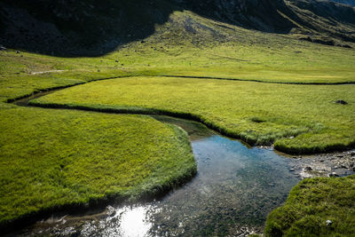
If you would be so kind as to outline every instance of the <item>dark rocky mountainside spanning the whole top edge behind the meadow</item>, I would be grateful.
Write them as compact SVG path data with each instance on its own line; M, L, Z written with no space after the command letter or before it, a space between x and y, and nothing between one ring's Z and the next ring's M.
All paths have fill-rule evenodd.
M101 55L152 35L171 12L189 10L242 28L333 45L355 42L351 4L353 0L1 0L0 44L59 56Z

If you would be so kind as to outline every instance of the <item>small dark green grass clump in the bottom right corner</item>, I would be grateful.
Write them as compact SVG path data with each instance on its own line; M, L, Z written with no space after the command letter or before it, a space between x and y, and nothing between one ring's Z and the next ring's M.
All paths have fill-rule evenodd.
M355 176L305 179L267 217L266 236L354 236ZM327 225L327 220L333 222Z

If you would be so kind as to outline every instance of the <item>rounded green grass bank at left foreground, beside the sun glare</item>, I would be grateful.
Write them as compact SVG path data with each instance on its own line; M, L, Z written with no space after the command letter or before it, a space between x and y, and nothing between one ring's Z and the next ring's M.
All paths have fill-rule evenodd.
M185 131L153 118L0 105L0 226L151 197L196 172Z

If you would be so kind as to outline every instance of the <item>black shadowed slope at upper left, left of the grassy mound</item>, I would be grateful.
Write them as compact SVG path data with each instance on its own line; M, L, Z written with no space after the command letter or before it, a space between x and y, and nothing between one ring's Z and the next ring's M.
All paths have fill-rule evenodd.
M0 44L42 54L100 56L144 39L179 10L164 1L2 0Z

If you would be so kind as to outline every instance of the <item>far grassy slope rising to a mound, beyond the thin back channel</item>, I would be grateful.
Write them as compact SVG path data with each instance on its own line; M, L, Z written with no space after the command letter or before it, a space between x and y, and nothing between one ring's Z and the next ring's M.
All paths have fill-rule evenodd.
M186 22L195 33L185 29ZM355 50L246 30L188 11L171 13L170 20L157 25L145 42L127 43L94 58L0 51L0 100L125 75L355 83ZM52 70L64 71L33 74Z

